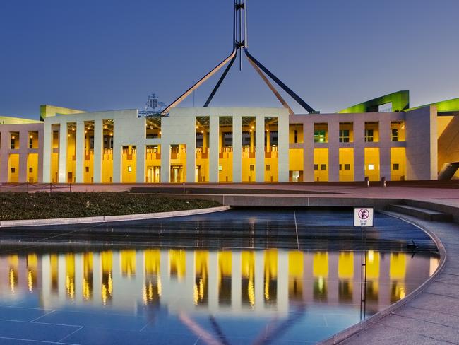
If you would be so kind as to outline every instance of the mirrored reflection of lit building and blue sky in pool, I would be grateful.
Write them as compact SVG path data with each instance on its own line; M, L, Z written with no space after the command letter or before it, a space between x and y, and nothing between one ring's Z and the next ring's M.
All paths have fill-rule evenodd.
M367 316L404 298L439 264L429 252L365 255ZM151 332L181 344L316 342L359 322L360 258L281 249L19 250L0 256L0 304L53 311L35 322L83 327L68 339L77 344L107 329L136 344ZM108 333L107 341L115 334Z

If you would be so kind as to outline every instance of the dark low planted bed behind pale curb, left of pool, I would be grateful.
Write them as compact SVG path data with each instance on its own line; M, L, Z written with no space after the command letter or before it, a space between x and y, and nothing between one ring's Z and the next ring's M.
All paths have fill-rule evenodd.
M149 214L221 206L216 201L177 200L121 192L0 193L0 221Z

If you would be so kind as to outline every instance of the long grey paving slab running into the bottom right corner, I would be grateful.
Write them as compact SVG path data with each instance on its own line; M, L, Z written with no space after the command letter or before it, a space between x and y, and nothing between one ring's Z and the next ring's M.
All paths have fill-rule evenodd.
M381 323L385 326L403 330L403 332L409 331L410 333L416 333L424 337L431 337L437 340L459 344L459 329L444 326L443 324L425 322L424 320L412 319L410 317L403 317L395 314L391 315L391 317L384 317Z

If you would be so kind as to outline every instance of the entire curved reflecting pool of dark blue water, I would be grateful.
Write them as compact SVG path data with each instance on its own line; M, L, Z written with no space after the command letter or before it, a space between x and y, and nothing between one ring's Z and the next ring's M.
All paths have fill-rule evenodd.
M0 326L42 341L61 332L81 344L314 343L387 308L435 271L439 255L422 230L383 214L375 226L364 252L364 315L361 233L350 210L47 226L32 239L27 228L2 229L0 312L8 315Z

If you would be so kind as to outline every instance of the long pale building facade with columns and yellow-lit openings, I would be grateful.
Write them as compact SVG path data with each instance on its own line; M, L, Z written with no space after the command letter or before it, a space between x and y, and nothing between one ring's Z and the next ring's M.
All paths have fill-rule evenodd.
M0 182L436 180L459 162L459 99L410 109L406 93L307 115L175 107L139 117L42 105L40 121L0 117Z

